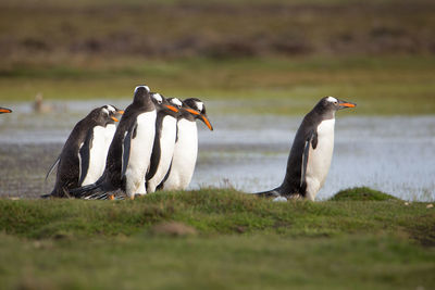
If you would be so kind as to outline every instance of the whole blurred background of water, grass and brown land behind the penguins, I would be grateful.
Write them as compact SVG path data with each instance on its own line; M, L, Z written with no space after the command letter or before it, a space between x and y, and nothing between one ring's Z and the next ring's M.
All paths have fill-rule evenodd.
M0 102L14 113L0 118L0 194L49 190L74 124L146 84L207 104L216 130L201 130L194 188L275 186L301 117L335 96L358 108L339 113L321 197L366 185L433 199L434 12L432 0L2 0Z

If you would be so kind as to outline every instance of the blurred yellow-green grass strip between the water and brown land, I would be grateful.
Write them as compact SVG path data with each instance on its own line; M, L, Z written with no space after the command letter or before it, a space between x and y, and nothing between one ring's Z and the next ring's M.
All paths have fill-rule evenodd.
M360 114L435 112L435 58L256 58L117 60L14 66L0 74L0 101L132 98L137 84L166 96L241 100L227 113L300 114L323 96L359 104ZM212 109L211 109L212 110Z

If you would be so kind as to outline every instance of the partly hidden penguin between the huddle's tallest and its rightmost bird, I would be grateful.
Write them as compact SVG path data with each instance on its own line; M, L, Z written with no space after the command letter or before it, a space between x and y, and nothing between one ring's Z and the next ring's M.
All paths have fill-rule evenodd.
M147 192L154 192L170 169L176 141L178 109L182 101L172 98L172 104L159 93L152 93L157 110L156 137L150 169L147 173Z

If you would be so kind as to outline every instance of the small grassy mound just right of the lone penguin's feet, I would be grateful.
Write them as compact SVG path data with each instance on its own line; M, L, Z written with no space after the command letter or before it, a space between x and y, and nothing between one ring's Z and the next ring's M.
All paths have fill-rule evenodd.
M332 201L387 201L397 198L368 187L356 187L341 190L331 198Z

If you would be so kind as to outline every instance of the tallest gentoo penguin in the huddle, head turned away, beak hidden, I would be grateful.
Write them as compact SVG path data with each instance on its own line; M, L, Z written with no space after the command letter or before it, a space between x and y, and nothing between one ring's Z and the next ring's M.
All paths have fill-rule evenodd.
M156 134L156 106L147 86L138 86L109 148L103 175L92 185L71 190L77 198L113 199L117 190L130 199L145 194Z

